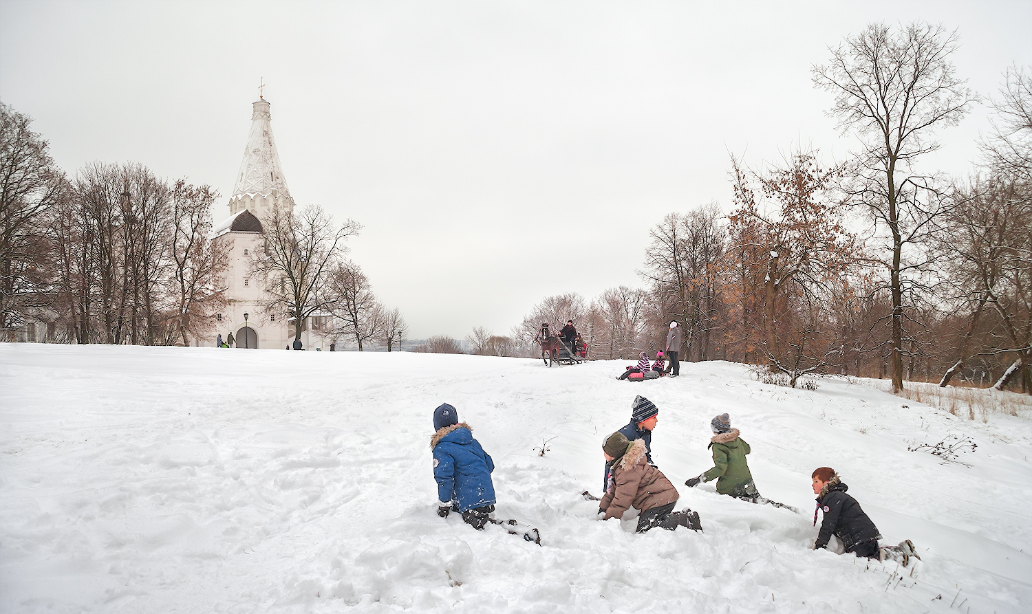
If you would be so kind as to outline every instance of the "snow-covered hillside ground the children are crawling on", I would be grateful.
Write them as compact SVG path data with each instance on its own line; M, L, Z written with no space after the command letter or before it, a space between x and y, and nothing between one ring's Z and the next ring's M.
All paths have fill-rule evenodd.
M841 380L792 390L724 362L618 382L623 364L0 345L0 611L1032 608L1032 416L971 421ZM600 492L603 438L636 394L659 407L653 458L703 534L638 536L579 495ZM496 515L541 547L436 515L444 401L494 458ZM760 491L800 514L683 486L722 412ZM948 433L977 444L970 468L907 450ZM809 550L820 465L924 560Z

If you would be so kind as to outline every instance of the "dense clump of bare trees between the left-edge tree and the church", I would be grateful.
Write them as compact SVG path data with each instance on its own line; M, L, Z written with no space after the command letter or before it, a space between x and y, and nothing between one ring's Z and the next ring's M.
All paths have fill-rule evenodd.
M216 197L136 163L91 164L67 182L47 215L49 312L65 340L186 345L206 335L227 263L209 238Z

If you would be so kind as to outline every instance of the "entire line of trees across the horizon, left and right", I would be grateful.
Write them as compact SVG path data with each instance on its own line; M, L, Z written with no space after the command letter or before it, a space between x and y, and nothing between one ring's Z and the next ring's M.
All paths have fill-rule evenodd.
M732 157L732 208L667 215L649 234L641 288L534 305L508 335L476 327L473 353L534 356L541 322L573 319L590 358L631 359L683 329L682 358L762 365L795 386L821 375L949 384L987 380L1032 393L1032 70L1011 66L991 98L992 130L969 177L922 166L980 99L957 73L957 32L871 24L812 66L828 115L854 138L832 167L793 151L749 168ZM200 337L218 313L226 256L209 240L207 186L139 164L91 164L68 179L30 120L2 107L0 325L53 314L53 338L169 345ZM359 350L407 331L376 299L336 225L316 205L273 212L253 270L267 311L328 317ZM461 352L436 335L419 350Z

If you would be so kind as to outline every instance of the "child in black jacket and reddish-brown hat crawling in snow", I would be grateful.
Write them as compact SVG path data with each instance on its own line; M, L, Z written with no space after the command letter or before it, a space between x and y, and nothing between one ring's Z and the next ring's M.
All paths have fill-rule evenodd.
M818 467L811 477L813 494L817 495L817 509L813 511L814 525L817 524L817 511L824 512L820 534L813 544L814 550L827 548L828 541L835 536L842 542L846 552L852 552L857 556L880 560L893 558L901 561L903 567L910 562L911 556L921 560L910 540L903 540L899 546L878 547L878 540L881 539L878 527L874 526L857 499L845 493L849 487L842 483L835 470Z

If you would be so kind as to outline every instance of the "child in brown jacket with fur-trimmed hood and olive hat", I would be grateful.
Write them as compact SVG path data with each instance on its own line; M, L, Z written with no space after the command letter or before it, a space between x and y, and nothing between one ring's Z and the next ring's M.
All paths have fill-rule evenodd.
M606 438L602 453L607 462L613 463L606 494L599 502L599 514L605 514L603 520L620 518L634 507L641 510L636 532L645 532L656 526L667 530L678 526L703 529L698 512L674 512L677 489L663 472L646 461L643 440L628 442L617 431Z

